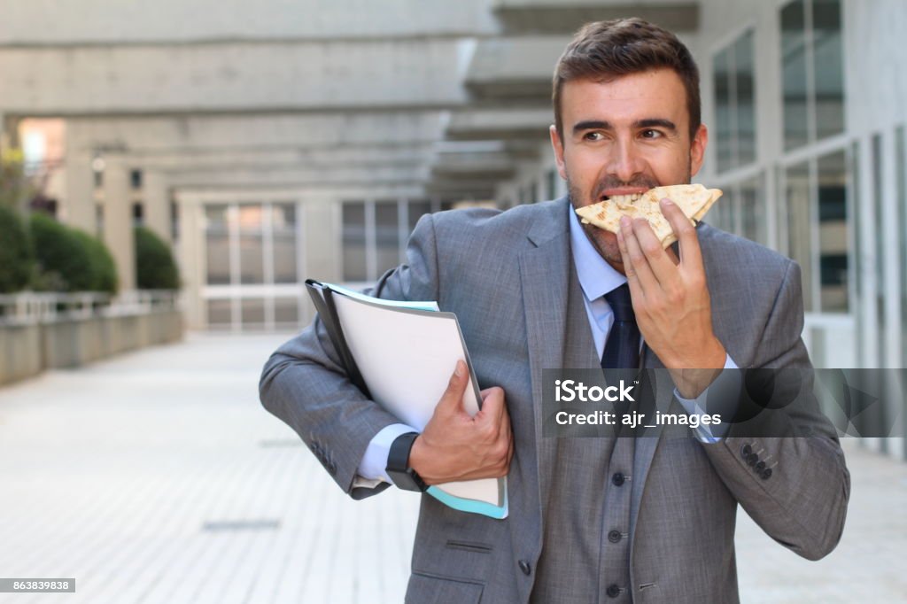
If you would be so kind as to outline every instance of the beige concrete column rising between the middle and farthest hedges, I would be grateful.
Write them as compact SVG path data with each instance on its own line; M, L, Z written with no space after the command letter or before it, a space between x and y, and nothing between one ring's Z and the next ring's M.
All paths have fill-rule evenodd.
M129 171L125 166L108 161L104 170L103 239L116 260L121 292L135 289L135 236L132 232L131 199Z

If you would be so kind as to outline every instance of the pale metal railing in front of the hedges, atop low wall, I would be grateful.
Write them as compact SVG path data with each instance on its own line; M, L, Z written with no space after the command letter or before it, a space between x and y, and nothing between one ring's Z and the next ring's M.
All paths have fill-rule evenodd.
M142 289L110 296L100 292L22 292L0 295L0 325L141 315L180 306L179 292Z

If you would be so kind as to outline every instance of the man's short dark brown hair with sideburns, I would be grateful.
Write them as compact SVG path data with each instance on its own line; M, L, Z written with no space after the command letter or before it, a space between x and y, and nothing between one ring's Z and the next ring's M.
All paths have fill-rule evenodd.
M561 54L554 68L551 101L554 123L563 140L561 89L572 80L609 82L622 75L668 68L680 76L687 90L690 140L696 135L702 114L699 100L699 69L693 55L668 30L637 17L585 24Z

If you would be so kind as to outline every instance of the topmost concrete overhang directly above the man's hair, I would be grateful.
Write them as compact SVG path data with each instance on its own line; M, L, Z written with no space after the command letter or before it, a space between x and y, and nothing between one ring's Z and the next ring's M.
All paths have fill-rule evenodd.
M493 14L509 34L573 34L590 21L637 16L672 32L699 26L690 0L495 0Z

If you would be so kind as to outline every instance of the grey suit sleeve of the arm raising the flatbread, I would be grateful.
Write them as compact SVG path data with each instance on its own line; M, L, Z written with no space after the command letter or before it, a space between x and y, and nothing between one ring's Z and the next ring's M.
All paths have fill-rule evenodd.
M808 560L818 560L841 539L850 473L834 426L812 395L812 365L800 337L803 325L800 268L790 262L756 366L794 370L788 374L802 376L800 392L808 395L759 414L755 421L762 424L755 430L751 424L745 433L757 436L736 435L743 431L732 426L724 441L705 445L705 450L727 488L769 536Z

